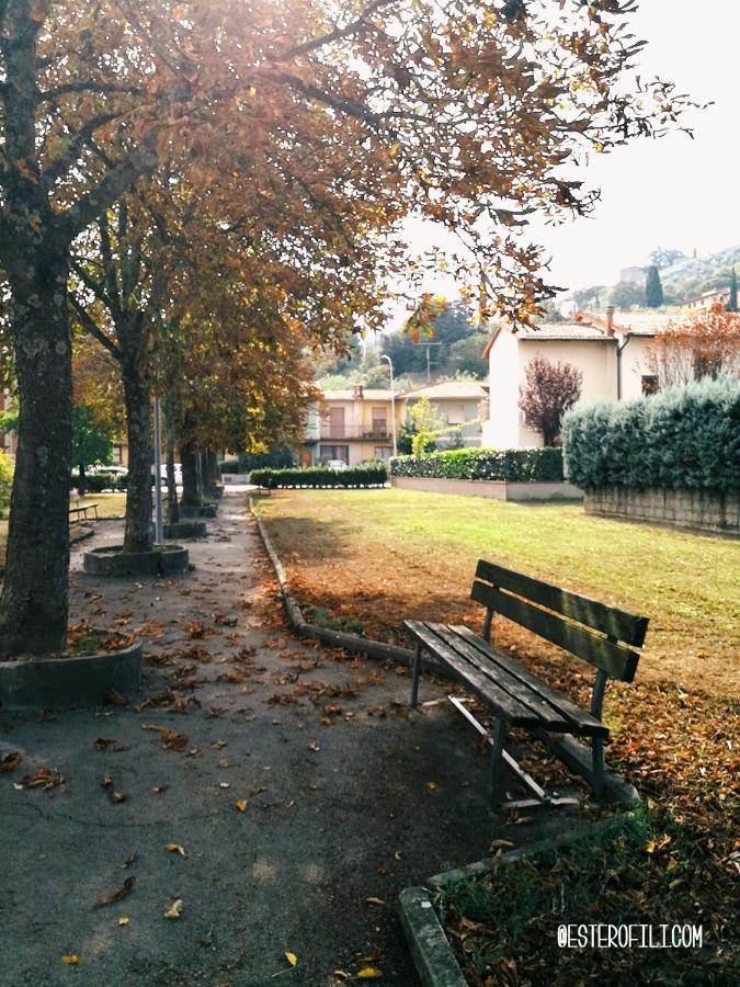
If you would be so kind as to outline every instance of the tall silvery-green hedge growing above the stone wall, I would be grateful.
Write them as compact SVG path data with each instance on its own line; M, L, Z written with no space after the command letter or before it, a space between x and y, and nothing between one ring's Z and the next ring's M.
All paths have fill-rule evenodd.
M740 488L740 381L705 378L562 422L566 472L583 488Z

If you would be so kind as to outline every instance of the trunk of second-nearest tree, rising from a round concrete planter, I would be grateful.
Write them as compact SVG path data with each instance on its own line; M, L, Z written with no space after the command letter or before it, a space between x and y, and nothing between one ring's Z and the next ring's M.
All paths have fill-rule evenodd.
M128 489L126 492L126 552L150 552L151 533L151 411L149 383L136 360L123 361L126 430L128 435Z

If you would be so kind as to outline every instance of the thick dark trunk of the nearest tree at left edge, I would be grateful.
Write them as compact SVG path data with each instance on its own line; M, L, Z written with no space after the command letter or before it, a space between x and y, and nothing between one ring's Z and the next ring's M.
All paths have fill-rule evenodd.
M29 254L27 263L16 259L10 277L19 421L0 599L2 657L48 655L67 644L72 454L67 261L64 250L43 243Z

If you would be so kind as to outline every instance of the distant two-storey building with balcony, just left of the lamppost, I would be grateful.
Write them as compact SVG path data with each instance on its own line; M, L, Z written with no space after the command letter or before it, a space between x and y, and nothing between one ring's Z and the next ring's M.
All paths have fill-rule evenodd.
M356 466L392 455L390 390L364 388L327 390L308 412L301 465L330 460Z

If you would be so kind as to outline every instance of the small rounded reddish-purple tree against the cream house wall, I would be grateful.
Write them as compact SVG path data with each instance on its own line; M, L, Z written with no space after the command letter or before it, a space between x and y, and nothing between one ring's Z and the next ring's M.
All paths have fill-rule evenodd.
M570 363L551 363L545 356L534 356L524 376L519 406L525 421L533 432L543 436L545 445L555 445L562 416L581 396L583 374Z

